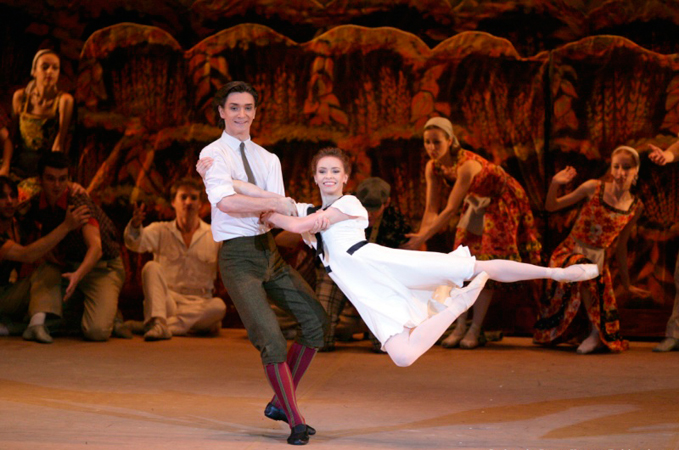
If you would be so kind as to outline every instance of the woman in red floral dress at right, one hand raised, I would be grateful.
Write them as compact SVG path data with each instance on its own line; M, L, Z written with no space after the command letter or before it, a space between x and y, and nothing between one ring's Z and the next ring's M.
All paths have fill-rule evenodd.
M630 285L627 271L627 240L632 227L641 215L641 201L630 188L639 173L639 154L632 147L618 147L611 155L610 180L588 180L573 192L557 197L560 186L576 176L566 167L552 178L545 208L556 211L586 199L571 233L552 253L550 267L568 267L576 263L594 262L602 274L600 278L577 285L548 282L547 296L540 305L540 318L535 324L534 341L557 344L578 334L587 334L577 349L579 354L592 353L599 348L614 352L626 350L627 341L620 337L618 310L606 249L618 238L616 259L623 288L635 295L647 292ZM576 319L584 305L589 320ZM581 333L583 326L589 328Z

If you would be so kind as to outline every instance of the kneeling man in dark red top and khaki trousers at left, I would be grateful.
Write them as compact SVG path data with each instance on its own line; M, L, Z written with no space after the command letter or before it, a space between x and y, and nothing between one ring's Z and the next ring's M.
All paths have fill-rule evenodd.
M61 300L65 302L79 291L84 296L81 328L85 339L106 341L113 332L118 295L125 281L117 230L87 195L72 192L69 166L64 153L48 153L40 160L38 177L42 191L31 199L27 219L35 221L46 236L64 221L71 205L76 208L86 205L91 216L82 228L66 235L54 249L51 262L40 268L39 297L45 302L34 307L32 299L31 309L61 317ZM64 293L62 279L66 284ZM31 329L26 330L24 339L39 340L37 333L29 332Z

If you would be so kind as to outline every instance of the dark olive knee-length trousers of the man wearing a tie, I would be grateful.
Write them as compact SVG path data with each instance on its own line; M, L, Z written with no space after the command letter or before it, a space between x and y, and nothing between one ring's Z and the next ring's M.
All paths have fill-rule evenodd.
M278 253L271 233L229 239L219 253L222 281L263 364L285 362L287 342L267 295L299 323L297 342L323 346L327 316L313 291Z

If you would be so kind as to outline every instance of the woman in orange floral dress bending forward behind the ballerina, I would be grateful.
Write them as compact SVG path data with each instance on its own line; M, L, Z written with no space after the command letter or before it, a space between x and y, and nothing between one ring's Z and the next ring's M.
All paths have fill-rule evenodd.
M500 166L463 149L448 119L434 117L424 126L424 148L431 158L425 168L427 198L420 230L404 248L417 250L438 233L462 206L455 248L469 247L479 260L510 259L540 263L540 243L526 192ZM452 187L447 201L444 191ZM444 347L475 348L496 286L487 284L474 304L466 330L466 314L443 340ZM466 332L466 334L465 334Z

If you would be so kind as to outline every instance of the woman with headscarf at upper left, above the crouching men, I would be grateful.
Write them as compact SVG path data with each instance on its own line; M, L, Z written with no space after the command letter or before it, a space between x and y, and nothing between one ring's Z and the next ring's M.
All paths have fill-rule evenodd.
M37 175L38 161L47 152L65 152L66 136L73 114L73 97L57 87L60 60L52 50L40 50L33 58L26 88L12 98L13 115L19 120L18 142L11 170L20 178Z

